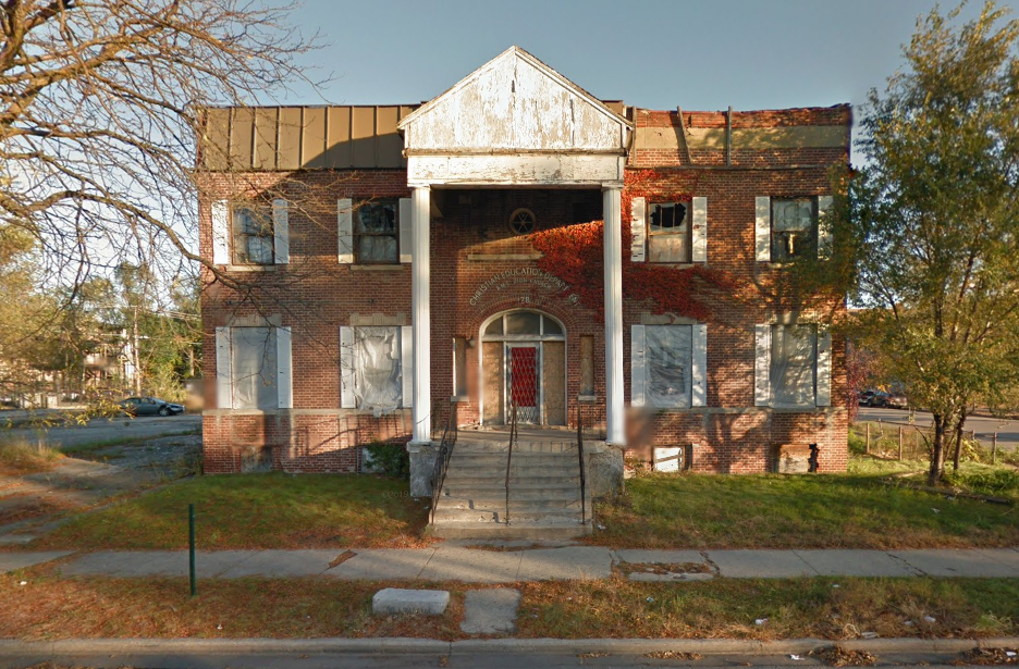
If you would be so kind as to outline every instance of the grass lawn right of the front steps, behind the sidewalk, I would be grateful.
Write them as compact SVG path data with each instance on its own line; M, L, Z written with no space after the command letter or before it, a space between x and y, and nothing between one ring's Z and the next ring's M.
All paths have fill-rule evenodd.
M1019 507L947 499L876 474L631 479L597 506L591 542L642 548L1019 545Z

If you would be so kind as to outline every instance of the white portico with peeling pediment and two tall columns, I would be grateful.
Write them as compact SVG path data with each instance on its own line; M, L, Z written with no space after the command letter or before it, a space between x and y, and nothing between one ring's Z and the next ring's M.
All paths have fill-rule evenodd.
M625 446L621 205L631 123L513 47L398 127L412 188L412 449L432 434L432 196L474 188L601 190L606 442Z

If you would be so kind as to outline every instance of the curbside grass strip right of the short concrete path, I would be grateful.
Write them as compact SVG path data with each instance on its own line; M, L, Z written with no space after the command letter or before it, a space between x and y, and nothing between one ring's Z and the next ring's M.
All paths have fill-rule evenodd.
M837 587L836 587L837 585ZM934 622L925 619L930 617ZM762 620L762 624L757 624ZM857 639L1019 632L1019 579L526 583L519 636Z

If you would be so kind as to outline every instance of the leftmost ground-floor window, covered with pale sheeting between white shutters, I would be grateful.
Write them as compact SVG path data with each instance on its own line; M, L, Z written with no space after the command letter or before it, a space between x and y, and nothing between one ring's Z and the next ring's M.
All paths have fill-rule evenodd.
M279 407L274 327L232 327L231 382L234 409Z

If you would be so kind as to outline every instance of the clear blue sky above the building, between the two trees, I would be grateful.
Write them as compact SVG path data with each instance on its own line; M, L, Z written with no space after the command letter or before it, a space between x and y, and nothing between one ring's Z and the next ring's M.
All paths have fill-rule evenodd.
M903 64L932 0L304 0L292 16L332 73L288 103L428 100L517 45L603 99L652 109L774 109L865 100ZM1005 3L1003 3L1005 4ZM954 2L943 3L944 11ZM962 17L979 14L971 2Z

